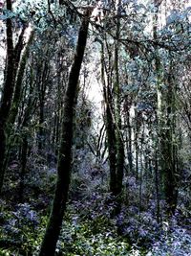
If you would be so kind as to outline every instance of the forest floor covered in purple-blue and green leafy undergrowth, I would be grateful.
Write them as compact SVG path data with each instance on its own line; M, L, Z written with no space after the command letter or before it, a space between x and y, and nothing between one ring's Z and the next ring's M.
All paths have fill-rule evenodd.
M0 255L37 255L51 209L55 169L41 170L40 178L30 174L22 202L18 202L13 176L0 201ZM170 220L162 212L161 201L158 222L155 198L148 198L143 190L140 203L136 179L126 179L128 198L124 196L115 215L114 200L102 177L83 175L82 180L74 174L56 255L191 255L191 214L185 207L189 200L180 194L176 215Z

